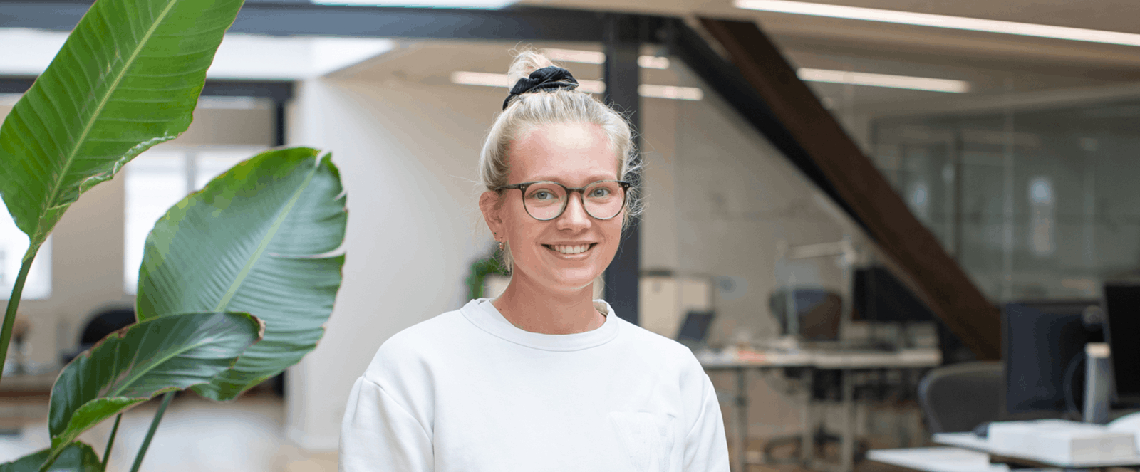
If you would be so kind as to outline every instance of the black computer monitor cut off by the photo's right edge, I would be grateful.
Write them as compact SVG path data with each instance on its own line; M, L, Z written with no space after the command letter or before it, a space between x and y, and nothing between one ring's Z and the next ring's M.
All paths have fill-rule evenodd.
M1105 284L1105 341L1108 342L1115 401L1140 404L1140 284Z

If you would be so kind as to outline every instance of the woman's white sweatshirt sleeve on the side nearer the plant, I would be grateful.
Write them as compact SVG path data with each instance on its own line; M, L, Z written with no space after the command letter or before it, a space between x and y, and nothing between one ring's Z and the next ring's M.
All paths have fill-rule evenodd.
M432 439L380 385L357 379L341 423L340 472L434 469Z

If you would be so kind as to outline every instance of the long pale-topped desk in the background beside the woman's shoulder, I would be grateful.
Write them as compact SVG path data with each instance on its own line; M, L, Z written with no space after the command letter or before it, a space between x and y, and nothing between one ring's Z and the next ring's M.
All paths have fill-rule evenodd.
M702 358L703 357L703 358ZM698 356L706 371L736 372L736 456L738 467L743 471L747 462L748 439L748 371L807 367L825 371L842 371L844 428L840 447L841 472L850 472L855 464L855 383L850 379L852 371L877 368L925 368L942 364L942 351L937 349L903 349L898 351L868 350L799 350L796 352L758 352L752 360L724 359L716 356ZM800 459L805 465L812 458L812 424L811 424L811 375L806 376L801 386L806 396L800 417L804 432L800 438Z

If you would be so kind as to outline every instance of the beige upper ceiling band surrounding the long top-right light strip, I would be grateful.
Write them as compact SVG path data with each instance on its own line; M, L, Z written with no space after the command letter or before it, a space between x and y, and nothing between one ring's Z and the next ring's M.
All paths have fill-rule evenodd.
M813 0L817 3L1107 30L1140 34L1135 0ZM1140 71L1135 47L897 25L735 8L732 0L521 0L520 5L708 16L757 22L782 47L852 56L940 56L1015 68L1070 66L1114 76ZM1131 79L1131 78L1130 78Z

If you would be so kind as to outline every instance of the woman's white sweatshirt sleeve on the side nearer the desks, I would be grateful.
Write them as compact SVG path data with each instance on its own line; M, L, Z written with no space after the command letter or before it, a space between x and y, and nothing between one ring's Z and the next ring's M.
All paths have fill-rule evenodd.
M684 472L727 472L728 442L712 381L705 375L701 412L685 436Z

